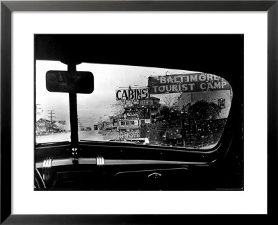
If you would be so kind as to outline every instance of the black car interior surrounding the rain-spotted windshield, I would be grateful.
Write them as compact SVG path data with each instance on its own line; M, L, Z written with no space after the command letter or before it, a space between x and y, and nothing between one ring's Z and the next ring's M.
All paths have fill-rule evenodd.
M240 34L34 35L35 81L39 61L61 63L67 67L65 76L80 78L69 81L74 84L63 89L55 80L57 72L47 68L45 90L68 98L70 140L35 141L34 190L243 190L243 40ZM132 139L132 135L124 133L123 137L131 137L131 141L81 140L76 98L79 93L95 92L99 85L93 69L78 74L76 67L81 63L180 69L220 76L232 88L229 116L220 139L207 149L170 142L148 144L145 136ZM121 85L120 81L117 85ZM34 124L37 121L35 118ZM91 132L91 128L87 129ZM120 126L117 129L126 132ZM36 139L35 132L34 126Z

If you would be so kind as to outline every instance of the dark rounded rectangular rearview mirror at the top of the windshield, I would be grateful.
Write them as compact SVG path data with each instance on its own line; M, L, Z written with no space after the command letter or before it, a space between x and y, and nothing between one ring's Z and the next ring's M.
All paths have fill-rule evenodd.
M75 92L90 94L94 90L94 76L91 72L50 70L46 75L49 92Z

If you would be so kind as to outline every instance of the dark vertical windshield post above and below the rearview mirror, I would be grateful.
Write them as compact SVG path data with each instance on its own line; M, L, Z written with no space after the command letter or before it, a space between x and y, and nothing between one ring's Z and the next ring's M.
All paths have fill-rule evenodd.
M67 71L76 72L76 65L67 65ZM72 146L77 147L78 138L78 119L77 119L77 95L76 92L70 92L70 138Z

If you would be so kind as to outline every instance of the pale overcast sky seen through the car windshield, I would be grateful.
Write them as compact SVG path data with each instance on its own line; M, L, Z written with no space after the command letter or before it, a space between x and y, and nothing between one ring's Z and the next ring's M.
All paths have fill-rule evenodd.
M36 61L36 104L40 118L50 120L50 111L53 110L56 121L65 120L70 126L69 96L67 93L49 92L46 89L45 74L49 70L67 70L67 65L57 61ZM154 67L135 67L124 65L104 65L81 63L76 65L77 71L88 71L94 75L94 91L92 94L77 94L77 113L79 124L90 126L97 124L101 119L106 119L117 113L119 104L116 101L115 90L120 87L147 87L149 76L163 76L170 74L188 74L192 71L177 69L162 69ZM177 96L177 94L171 94ZM153 94L152 96L165 102L169 94ZM174 98L172 98L174 99Z

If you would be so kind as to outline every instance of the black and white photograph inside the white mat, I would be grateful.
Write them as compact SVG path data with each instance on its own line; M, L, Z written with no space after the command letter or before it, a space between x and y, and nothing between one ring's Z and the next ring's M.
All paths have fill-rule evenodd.
M35 34L34 190L244 190L243 34Z

